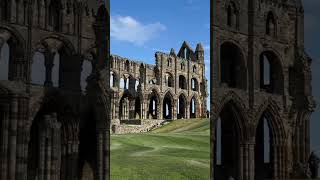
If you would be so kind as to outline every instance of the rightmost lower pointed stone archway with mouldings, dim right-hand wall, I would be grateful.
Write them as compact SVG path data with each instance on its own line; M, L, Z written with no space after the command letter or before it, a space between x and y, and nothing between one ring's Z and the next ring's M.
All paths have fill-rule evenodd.
M257 114L255 126L255 179L284 178L287 152L283 122L273 101L264 107Z

